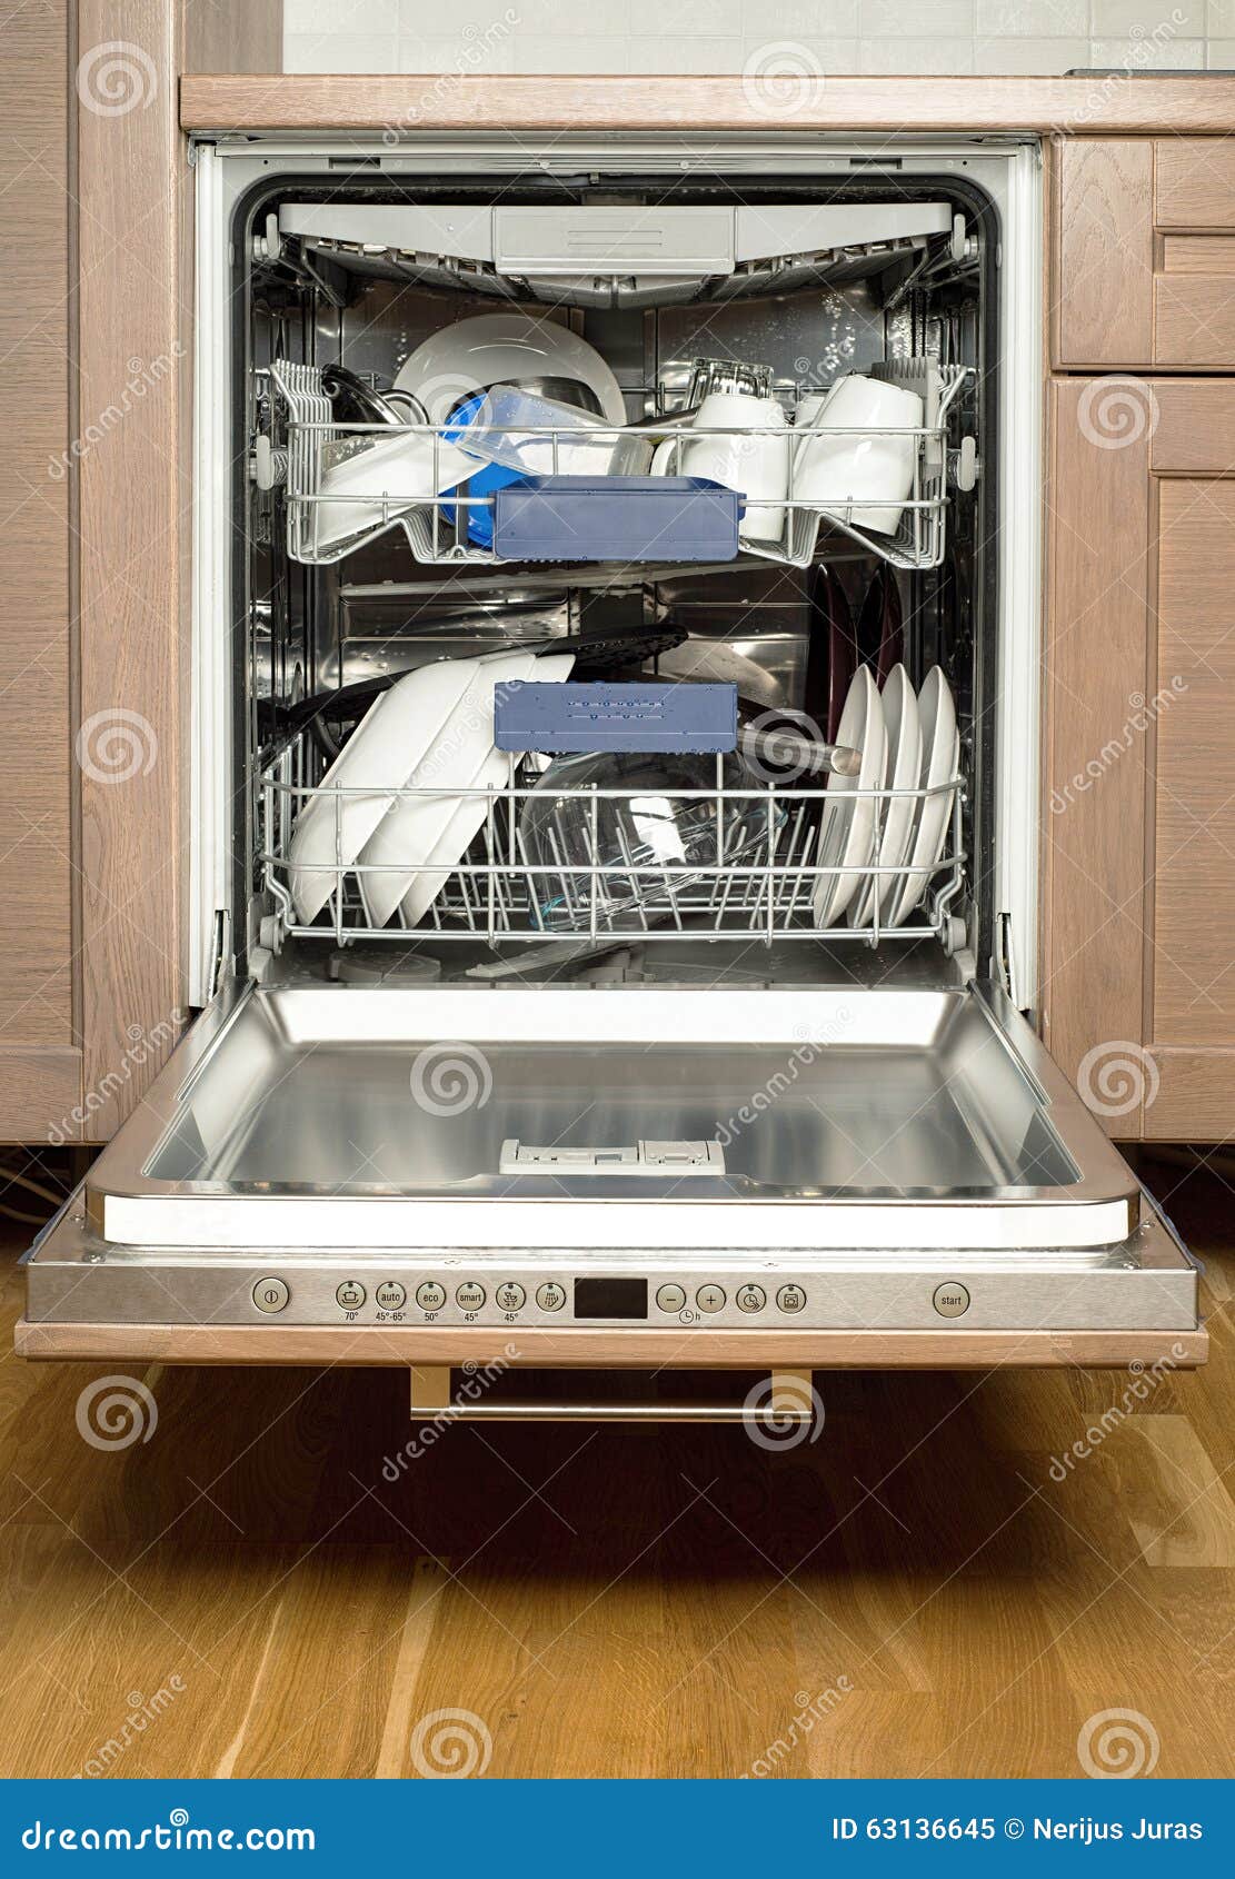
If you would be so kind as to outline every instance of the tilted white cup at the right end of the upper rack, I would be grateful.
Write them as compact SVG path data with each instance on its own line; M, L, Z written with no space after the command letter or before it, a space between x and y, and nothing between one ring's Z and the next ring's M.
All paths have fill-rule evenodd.
M923 402L915 391L857 372L836 380L805 427L799 408L801 436L793 442L795 498L853 528L895 536L900 504L914 489L917 438L887 432L914 430L921 421ZM868 436L861 436L863 430Z

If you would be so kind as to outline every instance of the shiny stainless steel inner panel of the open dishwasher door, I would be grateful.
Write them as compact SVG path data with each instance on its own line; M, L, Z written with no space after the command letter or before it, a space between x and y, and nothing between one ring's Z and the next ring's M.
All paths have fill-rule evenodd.
M718 1141L724 1172L502 1172L504 1142ZM620 1159L620 1157L615 1157ZM1137 1186L994 994L248 990L88 1178L111 1244L1103 1248Z

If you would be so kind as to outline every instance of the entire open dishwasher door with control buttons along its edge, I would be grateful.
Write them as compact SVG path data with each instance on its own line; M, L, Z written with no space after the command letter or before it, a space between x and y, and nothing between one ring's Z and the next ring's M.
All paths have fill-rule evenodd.
M24 1355L1199 1362L1197 1272L1002 994L248 986L28 1261Z

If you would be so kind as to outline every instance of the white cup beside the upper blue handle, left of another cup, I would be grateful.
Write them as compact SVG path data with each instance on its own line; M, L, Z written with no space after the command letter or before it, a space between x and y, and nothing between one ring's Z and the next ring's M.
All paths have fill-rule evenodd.
M699 430L733 436L694 436ZM778 398L712 391L682 438L665 438L652 457L654 475L701 475L746 498L743 541L780 541L789 492L789 434Z

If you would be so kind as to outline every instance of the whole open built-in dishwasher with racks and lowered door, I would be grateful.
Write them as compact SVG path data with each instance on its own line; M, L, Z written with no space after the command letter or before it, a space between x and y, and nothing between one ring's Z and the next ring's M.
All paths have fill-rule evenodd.
M696 1372L1203 1360L1196 1263L1034 1026L1036 139L220 133L192 163L197 1017L28 1255L19 1347L397 1364L427 1404L496 1366L539 1379L528 1415L613 1374L654 1398L635 1417ZM581 348L603 365L583 458L551 417L532 477L483 402L511 318L547 334L515 387L541 413L586 410ZM479 340L461 365L472 333L487 365ZM748 504L709 558L701 398L756 395L793 440L846 376L917 400L893 526L789 468L776 528ZM461 468L476 398L496 455ZM380 468L412 445L415 500ZM690 526L615 556L650 479L570 468L650 449ZM506 554L511 490L577 554ZM955 705L947 770L908 791L820 731L872 594L912 686L938 671ZM609 757L496 750L491 714L470 784L382 791L391 827L421 797L461 829L399 902L397 849L346 840L357 723L425 667L515 654L524 680L556 654L570 678L523 690L594 723L737 693L741 761L639 755L630 718ZM946 814L904 894L876 834L833 917L842 791L850 829L897 793ZM650 859L641 815L671 829Z

